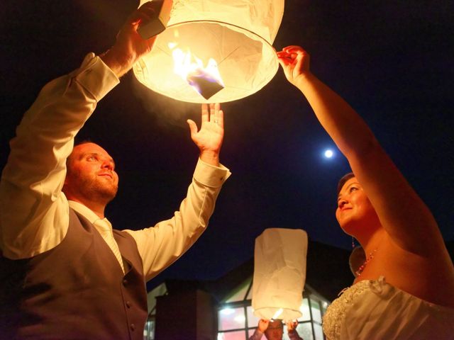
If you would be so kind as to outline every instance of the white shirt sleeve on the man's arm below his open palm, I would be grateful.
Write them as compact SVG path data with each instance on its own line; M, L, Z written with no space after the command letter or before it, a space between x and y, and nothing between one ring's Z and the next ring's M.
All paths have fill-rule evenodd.
M204 232L221 186L230 174L224 166L211 166L199 159L187 196L172 218L154 227L124 230L137 243L146 280L170 266Z

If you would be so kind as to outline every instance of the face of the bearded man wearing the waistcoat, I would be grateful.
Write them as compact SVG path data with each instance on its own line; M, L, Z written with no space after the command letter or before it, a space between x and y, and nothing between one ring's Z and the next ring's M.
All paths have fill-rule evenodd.
M118 190L114 159L99 145L84 143L72 150L63 191L70 199L109 203Z

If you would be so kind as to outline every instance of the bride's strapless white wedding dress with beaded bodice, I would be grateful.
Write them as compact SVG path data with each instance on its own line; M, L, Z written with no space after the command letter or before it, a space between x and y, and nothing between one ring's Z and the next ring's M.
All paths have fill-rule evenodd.
M434 305L378 280L346 288L326 310L328 340L454 339L454 308Z

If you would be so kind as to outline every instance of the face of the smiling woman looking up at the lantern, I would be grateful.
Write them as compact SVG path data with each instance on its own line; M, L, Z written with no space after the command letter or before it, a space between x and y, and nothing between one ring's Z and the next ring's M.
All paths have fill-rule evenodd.
M356 234L356 227L375 225L378 217L362 186L353 177L346 181L338 195L336 219L347 234Z

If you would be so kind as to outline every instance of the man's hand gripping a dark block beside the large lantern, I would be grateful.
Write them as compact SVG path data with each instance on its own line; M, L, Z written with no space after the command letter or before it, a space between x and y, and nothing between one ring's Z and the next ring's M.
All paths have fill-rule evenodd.
M140 23L150 20L153 13L155 13L155 9L151 1L133 11L118 32L115 45L101 55L101 59L115 72L117 77L128 72L140 57L152 50L156 36L143 39L137 33L137 28Z

